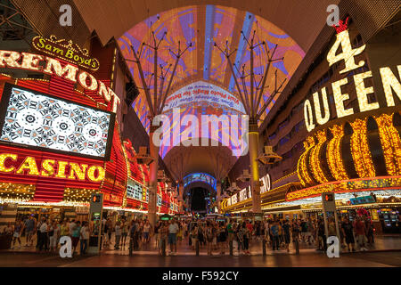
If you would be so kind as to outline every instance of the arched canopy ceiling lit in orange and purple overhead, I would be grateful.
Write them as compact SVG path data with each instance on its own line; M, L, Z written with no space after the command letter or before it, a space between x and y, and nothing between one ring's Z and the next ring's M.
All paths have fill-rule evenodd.
M140 87L143 86L130 45L133 45L135 51L138 51L142 43L153 43L151 31L154 31L157 39L163 37L164 33L167 32L165 40L158 51L158 63L166 69L168 64L175 61L175 57L170 53L169 49L176 52L178 41L181 42L182 49L186 44L192 43L192 46L189 47L178 62L176 75L169 94L175 93L186 85L202 81L210 85L216 85L218 88L223 88L227 93L239 98L225 55L214 47L214 43L216 42L217 45L222 47L228 45L230 51L236 50L230 57L231 60L239 69L243 64L246 64L245 72L249 73L250 52L247 49L246 40L241 36L241 31L248 38L255 31L255 42L266 41L267 49L270 50L270 53L277 44L274 59L284 58L282 61L274 61L272 63L266 81L266 86L268 87L259 108L274 91L275 70L277 70L277 82L282 82L284 77L287 77L286 82L288 82L305 56L304 51L289 35L272 22L258 15L219 5L180 7L161 12L143 20L143 22L135 25L119 38L121 52L129 60L127 65L135 78L135 82ZM260 80L266 67L267 54L263 45L259 45L254 51L254 70L258 75L256 80ZM144 45L141 62L147 82L151 82L153 61L153 51ZM152 88L153 85L150 84L151 94ZM133 103L133 108L145 129L149 132L150 121L147 118L149 110L145 94L142 89L140 91L141 94ZM276 94L272 102L270 102L261 118L262 120L271 110L279 95ZM181 111L185 111L185 106L181 106Z

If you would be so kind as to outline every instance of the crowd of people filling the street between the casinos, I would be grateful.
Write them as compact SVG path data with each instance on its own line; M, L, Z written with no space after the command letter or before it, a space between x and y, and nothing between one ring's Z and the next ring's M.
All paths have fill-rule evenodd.
M33 246L37 239L37 250L57 250L61 236L70 236L73 252L79 246L79 253L86 254L89 238L97 235L94 222L75 221L68 218L61 221L42 217L39 221L34 216L24 220L18 219L14 224L7 224L3 234L12 235L11 248ZM340 218L336 225L334 218L328 219L328 235L340 232L340 244L348 251L367 250L368 244L374 242L372 222L366 216L356 216L352 223L348 217ZM25 245L22 245L21 235L25 234ZM113 235L114 233L114 235ZM113 235L113 239L112 239ZM184 241L185 240L185 241ZM266 241L266 246L272 250L290 251L291 240L294 244L308 245L317 250L326 251L326 232L323 219L269 219L265 221L214 221L192 220L159 221L154 227L148 220L137 219L127 222L125 218L112 222L110 218L102 220L102 248L115 250L158 248L160 255L166 248L168 255L177 252L177 243L187 242L192 250L206 248L209 256L217 253L225 255L229 245L233 244L239 253L250 255L252 240ZM154 242L154 243L153 243ZM18 246L18 247L17 247ZM169 249L169 250L168 250Z

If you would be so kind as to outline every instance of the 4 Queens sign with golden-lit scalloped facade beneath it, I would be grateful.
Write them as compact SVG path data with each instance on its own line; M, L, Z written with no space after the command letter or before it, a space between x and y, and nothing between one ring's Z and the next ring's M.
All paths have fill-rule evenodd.
M364 52L366 45L353 48L346 25L336 29L327 61L329 66L343 62L344 69L339 73L348 77L331 83L334 108L329 107L326 87L321 89L321 95L312 94L313 104L309 99L305 101L305 123L310 133L297 165L303 189L287 193L287 200L315 197L325 191L401 187L401 65L395 62L392 66L397 68L397 75L390 67L357 72L365 67L364 61L356 63L356 56ZM381 83L382 94L364 81L370 78L372 82L375 76L380 77L374 82ZM353 80L348 82L348 78ZM355 89L354 106L346 103L350 95L341 91L344 85L348 85L348 92ZM368 99L369 94L377 99ZM330 110L335 110L337 116L332 116Z

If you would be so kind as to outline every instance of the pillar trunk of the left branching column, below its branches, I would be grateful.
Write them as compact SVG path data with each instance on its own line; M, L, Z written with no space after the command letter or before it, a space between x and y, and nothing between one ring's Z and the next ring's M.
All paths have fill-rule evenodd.
M151 159L153 161L150 165L150 182L149 182L149 202L148 202L148 218L151 226L156 224L156 211L157 211L157 191L158 191L158 169L159 169L159 150L160 146L153 143L153 134L159 126L151 126L149 134L149 147Z

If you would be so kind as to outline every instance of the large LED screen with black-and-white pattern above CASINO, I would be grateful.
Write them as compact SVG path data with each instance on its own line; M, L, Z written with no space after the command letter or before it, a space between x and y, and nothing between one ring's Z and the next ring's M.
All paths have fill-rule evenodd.
M114 113L6 84L0 142L108 160L114 120Z

